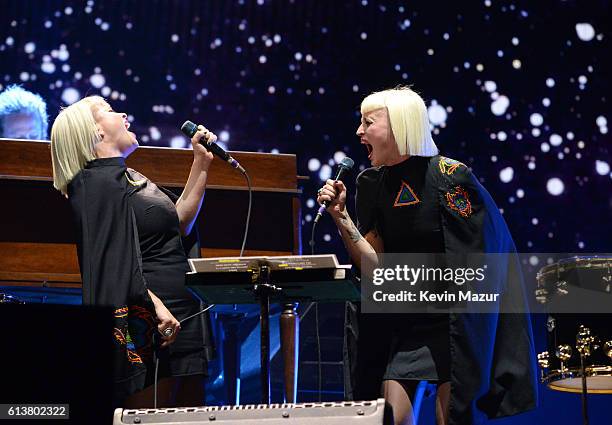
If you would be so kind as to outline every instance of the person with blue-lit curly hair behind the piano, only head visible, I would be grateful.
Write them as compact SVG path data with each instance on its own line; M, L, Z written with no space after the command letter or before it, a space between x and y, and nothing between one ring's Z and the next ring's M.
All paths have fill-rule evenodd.
M20 86L8 86L0 94L0 137L47 140L47 104Z

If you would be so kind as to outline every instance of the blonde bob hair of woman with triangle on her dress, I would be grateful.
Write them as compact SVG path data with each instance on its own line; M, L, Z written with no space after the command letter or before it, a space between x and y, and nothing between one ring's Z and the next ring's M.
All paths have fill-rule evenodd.
M400 155L438 154L438 147L431 138L427 108L421 96L408 87L375 92L361 102L361 115L381 108L387 108Z

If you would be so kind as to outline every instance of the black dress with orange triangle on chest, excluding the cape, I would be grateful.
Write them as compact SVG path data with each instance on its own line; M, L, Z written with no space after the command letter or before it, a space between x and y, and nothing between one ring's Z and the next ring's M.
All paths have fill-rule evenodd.
M436 191L426 187L428 164L429 158L415 156L360 175L358 228L363 235L375 229L384 242L384 252L444 252ZM381 380L450 379L448 315L367 314L362 319L364 340L365 333L376 337L381 346L377 361L384 362L381 366L375 366L374 360L368 362L369 373L382 372Z

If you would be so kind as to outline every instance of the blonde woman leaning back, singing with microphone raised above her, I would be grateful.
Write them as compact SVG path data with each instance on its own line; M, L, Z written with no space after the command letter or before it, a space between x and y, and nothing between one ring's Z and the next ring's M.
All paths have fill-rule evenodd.
M83 304L114 311L116 407L204 403L205 321L180 323L200 311L185 289L189 270L183 236L198 215L212 154L199 140L216 136L200 126L193 163L180 197L127 168L138 147L125 113L99 96L60 111L51 129L53 186L75 218ZM154 342L155 329L159 342Z

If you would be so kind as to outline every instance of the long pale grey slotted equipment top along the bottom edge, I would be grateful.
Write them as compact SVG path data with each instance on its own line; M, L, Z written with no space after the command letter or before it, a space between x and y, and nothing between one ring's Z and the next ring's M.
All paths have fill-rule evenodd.
M116 409L113 425L390 425L385 400L173 409Z

